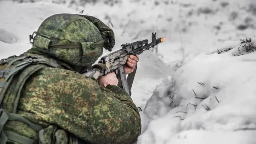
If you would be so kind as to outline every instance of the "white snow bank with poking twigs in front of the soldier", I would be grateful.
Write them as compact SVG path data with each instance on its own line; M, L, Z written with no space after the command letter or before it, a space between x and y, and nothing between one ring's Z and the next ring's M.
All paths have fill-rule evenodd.
M157 86L138 144L255 143L256 38L241 42L199 54Z

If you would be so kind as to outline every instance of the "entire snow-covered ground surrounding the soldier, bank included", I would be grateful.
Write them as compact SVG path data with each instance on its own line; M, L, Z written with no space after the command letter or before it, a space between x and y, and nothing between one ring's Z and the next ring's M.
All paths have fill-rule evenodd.
M28 35L56 13L101 19L114 29L114 50L157 32L166 41L140 55L132 87L144 109L137 143L256 143L255 0L35 1L0 2L0 59L28 50Z

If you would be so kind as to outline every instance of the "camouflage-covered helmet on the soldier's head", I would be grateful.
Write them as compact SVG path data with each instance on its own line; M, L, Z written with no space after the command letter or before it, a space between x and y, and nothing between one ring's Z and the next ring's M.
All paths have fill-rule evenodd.
M114 32L93 16L55 14L42 22L33 48L74 66L90 66L114 47Z

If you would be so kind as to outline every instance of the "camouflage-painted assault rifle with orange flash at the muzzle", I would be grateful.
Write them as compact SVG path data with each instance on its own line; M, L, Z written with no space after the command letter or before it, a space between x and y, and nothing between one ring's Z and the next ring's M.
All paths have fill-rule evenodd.
M129 55L140 55L145 50L154 48L157 44L163 42L163 38L156 39L156 32L152 33L152 42L148 43L148 40L136 41L131 44L122 44L120 50L116 50L106 56L103 56L98 64L92 66L92 70L84 73L85 76L98 79L100 76L104 76L110 72L115 72L119 81L118 86L123 88L131 96L131 88L136 73L137 65L134 71L126 75L124 72L124 65L126 64Z

